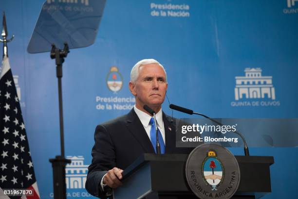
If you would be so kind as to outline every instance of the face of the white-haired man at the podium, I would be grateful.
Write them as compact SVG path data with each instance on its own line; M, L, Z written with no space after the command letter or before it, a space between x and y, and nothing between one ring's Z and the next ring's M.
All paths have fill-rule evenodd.
M146 104L159 111L165 100L168 83L162 67L156 63L142 65L139 68L139 77L130 82L130 92L135 96L137 108L143 110Z

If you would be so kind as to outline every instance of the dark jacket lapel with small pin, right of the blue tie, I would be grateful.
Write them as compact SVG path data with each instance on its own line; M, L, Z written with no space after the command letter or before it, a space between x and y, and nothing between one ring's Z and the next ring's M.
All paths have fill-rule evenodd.
M170 122L164 112L163 120L166 134L166 153L173 153L176 147L175 123Z

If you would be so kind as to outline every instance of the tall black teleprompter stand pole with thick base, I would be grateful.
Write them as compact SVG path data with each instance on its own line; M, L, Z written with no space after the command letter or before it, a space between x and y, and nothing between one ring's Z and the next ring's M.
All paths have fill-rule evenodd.
M55 159L49 159L53 167L54 199L66 199L65 166L71 163L70 159L64 157L64 128L63 128L63 105L62 105L62 63L69 53L68 44L64 43L64 49L56 48L52 44L51 59L56 60L56 76L58 79L58 98L59 98L59 121L60 121L60 147L61 155Z

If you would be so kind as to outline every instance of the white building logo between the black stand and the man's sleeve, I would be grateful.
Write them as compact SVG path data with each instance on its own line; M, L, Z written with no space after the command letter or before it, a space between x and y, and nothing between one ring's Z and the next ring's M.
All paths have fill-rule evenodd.
M67 189L85 189L87 179L88 166L84 165L83 156L67 156L66 159L71 159L72 163L65 167L65 181Z

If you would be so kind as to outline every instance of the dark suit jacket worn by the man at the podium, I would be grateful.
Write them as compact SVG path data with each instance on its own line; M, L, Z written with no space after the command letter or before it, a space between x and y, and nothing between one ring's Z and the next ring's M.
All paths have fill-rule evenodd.
M189 153L189 149L176 148L175 122L163 113L166 135L166 153ZM108 170L125 170L144 153L155 153L143 124L134 109L124 116L98 125L94 134L92 163L88 167L86 189L93 196L106 198L100 181Z

